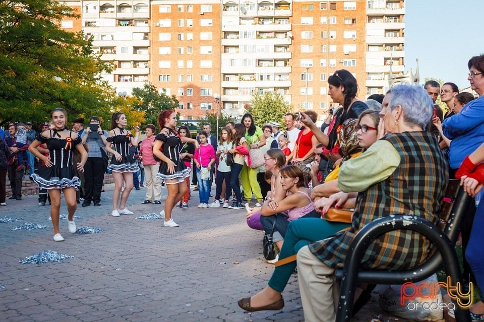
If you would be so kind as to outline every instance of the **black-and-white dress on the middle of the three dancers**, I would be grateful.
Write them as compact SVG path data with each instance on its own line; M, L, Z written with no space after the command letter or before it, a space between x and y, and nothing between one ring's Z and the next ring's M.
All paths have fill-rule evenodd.
M116 131L119 134L116 134ZM130 154L130 142L133 134L129 133L124 128L116 127L113 129L114 136L106 138L106 141L111 142L112 148L121 154L123 159L119 162L114 155L111 157L111 164L107 166L108 170L112 172L138 172L140 167L135 161L135 155Z

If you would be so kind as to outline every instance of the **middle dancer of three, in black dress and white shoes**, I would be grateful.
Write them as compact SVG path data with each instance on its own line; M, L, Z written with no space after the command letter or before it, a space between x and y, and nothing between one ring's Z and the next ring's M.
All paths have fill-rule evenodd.
M125 129L127 124L128 120L123 113L114 113L111 116L111 130L107 133L108 137L106 138L106 151L112 153L111 164L107 169L111 170L112 178L114 179L111 212L111 216L113 217L133 214L132 211L126 208L126 202L128 201L131 190L133 190L133 173L140 170L135 161L135 156L129 152L130 143L138 146L140 127L135 126L136 136L133 137L133 134ZM123 193L121 193L123 180L126 186ZM121 201L118 207L119 194L121 194Z

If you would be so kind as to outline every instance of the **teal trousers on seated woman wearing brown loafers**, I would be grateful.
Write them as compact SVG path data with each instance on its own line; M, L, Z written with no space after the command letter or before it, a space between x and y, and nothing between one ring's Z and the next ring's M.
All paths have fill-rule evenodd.
M282 244L279 260L297 254L302 247L309 243L334 235L351 224L332 222L321 218L299 218L289 223L284 244ZM296 261L276 267L269 280L269 286L282 292L296 268Z

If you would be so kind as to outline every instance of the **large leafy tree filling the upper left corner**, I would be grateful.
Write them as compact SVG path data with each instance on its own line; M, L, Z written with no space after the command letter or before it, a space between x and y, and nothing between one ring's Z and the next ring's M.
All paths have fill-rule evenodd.
M59 28L70 7L51 0L0 2L0 123L40 123L56 107L69 119L100 115L113 95L99 75L110 72L82 32Z

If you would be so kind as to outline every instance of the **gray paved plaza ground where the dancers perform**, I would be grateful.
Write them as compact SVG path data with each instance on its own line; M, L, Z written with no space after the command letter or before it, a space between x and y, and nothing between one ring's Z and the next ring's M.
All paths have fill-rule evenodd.
M49 207L38 207L36 195L7 200L0 207L0 217L24 219L0 223L1 321L304 320L296 274L283 293L282 310L248 313L237 306L238 299L265 287L274 269L262 257L262 232L246 225L244 209L197 209L198 192L193 191L190 207L173 211L180 227L167 228L162 219L135 219L158 213L166 189L161 205L142 205L144 188L133 190L128 207L135 214L120 217L110 216L113 185L105 189L101 207L79 205L76 212L81 217L78 227L101 227L104 232L71 234L62 219L64 242L52 240ZM10 230L23 223L48 228ZM74 258L19 263L44 251ZM377 299L375 294L354 321L381 314Z

